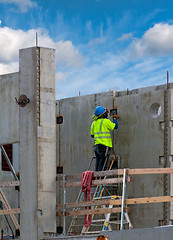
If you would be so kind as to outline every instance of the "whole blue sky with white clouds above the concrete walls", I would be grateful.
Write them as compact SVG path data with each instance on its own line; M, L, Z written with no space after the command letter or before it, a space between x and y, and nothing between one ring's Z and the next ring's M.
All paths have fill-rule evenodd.
M56 99L166 83L173 75L171 0L0 0L0 72L18 51L56 49Z

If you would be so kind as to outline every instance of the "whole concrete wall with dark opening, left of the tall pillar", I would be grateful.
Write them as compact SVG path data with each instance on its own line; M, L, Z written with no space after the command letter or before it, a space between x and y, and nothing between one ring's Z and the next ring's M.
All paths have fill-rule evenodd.
M13 164L16 171L19 171L19 156L17 142L19 141L19 108L15 98L19 96L19 73L11 73L0 76L0 144L13 144ZM17 148L16 148L17 147ZM16 150L16 151L15 151ZM0 151L0 182L14 181L11 172L1 171ZM14 188L2 189L11 208L19 207L19 192ZM15 228L8 217L10 226L15 234ZM4 216L0 216L0 229L4 235L11 235L11 230Z

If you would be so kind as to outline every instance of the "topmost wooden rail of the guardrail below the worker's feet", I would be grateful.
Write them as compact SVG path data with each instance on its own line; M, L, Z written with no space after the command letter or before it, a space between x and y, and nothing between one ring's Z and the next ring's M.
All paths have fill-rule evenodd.
M124 169L114 169L114 170L107 170L101 172L94 172L93 177L104 177L104 176L117 176L123 175ZM137 169L130 169L127 168L128 175L138 175L138 174L170 174L173 173L173 168L137 168ZM73 174L73 175L66 175L66 180L74 180L74 179L81 179L82 173L80 174ZM57 175L57 180L62 180L62 175Z

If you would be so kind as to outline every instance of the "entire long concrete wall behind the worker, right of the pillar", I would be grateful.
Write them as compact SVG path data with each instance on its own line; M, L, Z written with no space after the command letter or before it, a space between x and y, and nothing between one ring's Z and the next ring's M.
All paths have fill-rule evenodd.
M64 122L57 125L57 165L64 167L65 174L87 170L94 154L94 142L90 138L91 116L95 107L102 105L118 109L119 129L113 132L113 145L120 156L121 168L170 167L172 103L172 85L169 90L162 85L57 101L57 115L64 118ZM112 120L111 116L109 118ZM67 201L72 202L79 189L68 191ZM163 175L133 176L132 183L127 185L127 197L130 198L169 194L169 177ZM135 228L158 226L161 220L167 224L169 205L131 206L132 224Z

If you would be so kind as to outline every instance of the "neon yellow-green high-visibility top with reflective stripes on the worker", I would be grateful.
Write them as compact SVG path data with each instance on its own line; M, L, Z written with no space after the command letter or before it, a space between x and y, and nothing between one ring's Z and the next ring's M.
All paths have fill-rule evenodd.
M107 118L99 118L91 124L91 135L94 135L95 145L102 144L112 147L110 130L115 128L115 123Z

